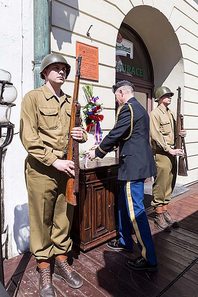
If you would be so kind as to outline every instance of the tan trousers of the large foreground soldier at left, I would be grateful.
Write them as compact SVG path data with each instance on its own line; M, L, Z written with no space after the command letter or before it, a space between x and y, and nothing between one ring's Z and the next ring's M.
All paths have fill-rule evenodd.
M28 155L25 162L30 220L30 251L36 259L71 249L74 207L65 202L67 175Z

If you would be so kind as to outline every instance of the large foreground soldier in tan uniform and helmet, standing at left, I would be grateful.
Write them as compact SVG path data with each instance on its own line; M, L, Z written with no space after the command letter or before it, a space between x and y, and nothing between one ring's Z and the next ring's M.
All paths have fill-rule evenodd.
M46 83L25 95L21 104L20 138L28 152L25 162L29 201L30 250L37 259L41 297L54 297L49 261L55 256L54 275L70 287L80 288L80 275L67 263L72 241L69 233L73 206L65 202L67 175L74 176L74 162L65 160L72 98L60 89L70 65L59 54L41 63ZM85 142L86 132L75 127L71 137Z

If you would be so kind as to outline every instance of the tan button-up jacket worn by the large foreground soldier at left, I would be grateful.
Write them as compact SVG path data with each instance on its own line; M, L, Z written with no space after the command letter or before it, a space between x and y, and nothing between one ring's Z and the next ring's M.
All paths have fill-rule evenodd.
M20 139L30 155L51 165L68 144L72 98L62 91L60 101L44 84L27 93L21 103ZM85 130L84 140L87 140Z

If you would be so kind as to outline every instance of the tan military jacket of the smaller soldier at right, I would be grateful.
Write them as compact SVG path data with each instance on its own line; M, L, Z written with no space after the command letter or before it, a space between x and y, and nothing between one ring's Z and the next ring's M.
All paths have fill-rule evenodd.
M162 106L157 106L150 112L149 118L151 148L165 151L174 148L175 113L169 108L166 110Z

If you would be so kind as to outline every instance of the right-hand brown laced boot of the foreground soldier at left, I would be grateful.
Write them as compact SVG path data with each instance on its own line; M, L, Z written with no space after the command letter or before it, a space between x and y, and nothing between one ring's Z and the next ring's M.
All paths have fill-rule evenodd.
M83 285L80 275L69 266L67 259L64 261L55 261L54 277L64 280L73 289L79 289Z

